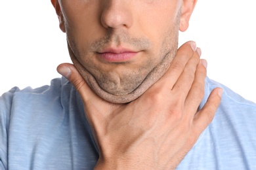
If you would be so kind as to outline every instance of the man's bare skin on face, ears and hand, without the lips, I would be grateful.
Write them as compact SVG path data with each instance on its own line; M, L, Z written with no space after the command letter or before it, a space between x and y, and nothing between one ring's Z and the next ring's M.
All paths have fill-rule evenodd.
M201 50L196 48L194 42L186 42L177 53L173 50L177 48L177 31L184 31L188 27L196 1L161 1L161 5L158 4L159 1L146 0L131 3L125 0L98 2L52 0L60 20L60 28L67 32L70 56L74 61L74 65L60 64L57 70L70 80L83 100L85 116L99 150L95 169L175 169L213 120L223 92L220 88L215 88L204 107L198 110L204 95L207 63L200 59ZM158 12L152 12L154 10ZM83 21L86 17L86 21L92 24L88 27ZM158 20L152 22L152 18ZM127 24L118 26L120 21L127 21ZM155 23L159 25L155 27ZM144 24L151 25L144 27ZM104 63L91 50L102 48L104 44L125 44L131 45L131 48L141 48L142 45L139 44L133 46L133 43L137 43L133 41L135 39L139 44L146 44L143 46L145 49L128 62ZM170 42L166 42L168 40ZM151 48L147 48L148 44ZM165 62L165 58L168 58L168 62ZM91 65L87 65L87 62ZM144 63L150 65L144 68ZM137 86L134 81L137 80L134 77L136 74L141 73L137 75L142 77L139 86L144 86L146 78L143 76L150 76L158 65L164 63L167 67L156 69L157 73L154 75L160 77L129 103L106 100L87 79L89 75L106 75L109 81L103 78L103 84L110 85L109 91L112 92L114 84L116 94L125 96L127 89L132 87L133 90ZM87 67L88 70L95 67L99 72L92 69L86 75L85 72L89 72L85 71ZM135 75L129 73L131 69L135 69ZM129 79L129 76L134 80ZM122 84L119 80L123 78L132 82Z

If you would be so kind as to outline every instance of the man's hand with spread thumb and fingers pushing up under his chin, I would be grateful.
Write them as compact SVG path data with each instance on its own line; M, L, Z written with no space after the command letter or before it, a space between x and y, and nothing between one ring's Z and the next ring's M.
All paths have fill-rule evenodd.
M127 104L104 101L87 86L74 65L58 72L83 99L100 156L95 169L175 169L210 124L221 102L221 88L211 92L201 110L205 63L200 48L186 42L158 82ZM193 46L193 45L192 45Z

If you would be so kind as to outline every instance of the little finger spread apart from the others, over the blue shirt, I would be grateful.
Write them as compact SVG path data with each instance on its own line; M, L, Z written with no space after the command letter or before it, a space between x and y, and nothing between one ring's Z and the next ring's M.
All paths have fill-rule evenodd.
M193 121L194 131L200 135L202 131L211 123L215 115L216 110L218 109L221 103L221 96L223 94L222 88L215 88L209 95L207 102L201 110L199 110Z

